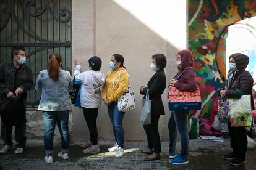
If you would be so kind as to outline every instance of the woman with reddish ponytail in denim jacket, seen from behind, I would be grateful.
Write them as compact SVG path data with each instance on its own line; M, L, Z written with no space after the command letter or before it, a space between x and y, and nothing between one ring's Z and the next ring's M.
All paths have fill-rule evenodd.
M41 92L38 110L43 111L45 125L45 161L53 162L53 136L55 124L61 134L62 151L58 156L69 158L69 92L72 91L72 77L69 71L61 70L62 60L59 53L49 56L47 70L38 75L36 90Z

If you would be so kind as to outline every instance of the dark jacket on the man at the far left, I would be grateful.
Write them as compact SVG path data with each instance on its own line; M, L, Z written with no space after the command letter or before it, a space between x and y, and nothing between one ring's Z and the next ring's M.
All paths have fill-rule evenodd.
M23 90L22 98L27 98L27 91L33 86L32 71L27 65L20 65L20 71L15 83L16 69L12 60L3 62L0 65L0 92L2 97L7 98L9 92L14 92L17 87Z

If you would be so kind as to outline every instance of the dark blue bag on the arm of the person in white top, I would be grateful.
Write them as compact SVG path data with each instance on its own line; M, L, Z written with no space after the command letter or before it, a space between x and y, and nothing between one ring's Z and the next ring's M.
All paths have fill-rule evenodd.
M76 75L75 75L76 76ZM80 87L81 83L77 80L75 80L75 76L73 79L73 86L72 86L72 91L69 93L71 103L74 104L77 107L80 107Z

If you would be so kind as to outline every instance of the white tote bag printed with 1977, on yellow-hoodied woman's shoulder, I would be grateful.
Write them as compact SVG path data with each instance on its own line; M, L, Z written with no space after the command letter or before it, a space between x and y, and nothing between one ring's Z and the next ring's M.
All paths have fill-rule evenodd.
M122 71L126 71L126 70L121 70L120 73L119 73L119 71L117 71L117 73L116 73L116 75L119 73L119 79L120 79L120 75L121 75ZM127 71L126 71L126 73L127 73ZM128 73L127 73L127 75L128 75ZM129 77L129 75L128 75L128 77ZM113 89L115 89L115 87L114 87L115 81L116 81L116 78L113 80ZM126 112L126 111L135 109L135 94L134 94L134 90L132 89L132 86L130 85L130 81L129 81L126 91L118 98L117 107L118 107L118 110L122 111L122 112Z

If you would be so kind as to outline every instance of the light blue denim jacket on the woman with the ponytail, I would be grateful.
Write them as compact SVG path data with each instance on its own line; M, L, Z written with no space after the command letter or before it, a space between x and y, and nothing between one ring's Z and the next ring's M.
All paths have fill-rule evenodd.
M69 71L59 69L58 81L49 78L48 71L43 70L36 80L36 91L41 92L38 110L65 111L70 109L69 92L72 91L72 77Z

